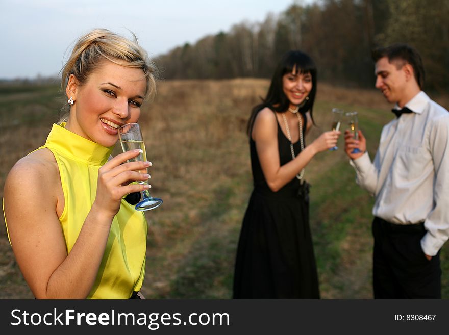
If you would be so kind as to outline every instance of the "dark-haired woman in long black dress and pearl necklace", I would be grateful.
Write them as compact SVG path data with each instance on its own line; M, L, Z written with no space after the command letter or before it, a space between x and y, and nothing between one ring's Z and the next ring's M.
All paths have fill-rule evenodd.
M315 154L336 145L340 132L322 133L306 146L315 94L313 60L291 50L251 114L254 190L238 243L235 299L319 298L304 171Z

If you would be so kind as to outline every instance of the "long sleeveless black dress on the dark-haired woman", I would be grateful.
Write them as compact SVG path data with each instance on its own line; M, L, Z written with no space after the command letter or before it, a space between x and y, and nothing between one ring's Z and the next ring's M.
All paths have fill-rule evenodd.
M307 119L304 117L303 133ZM292 160L278 123L281 166ZM295 155L300 141L293 144ZM309 227L309 204L298 196L296 177L278 192L268 187L250 137L254 190L246 209L234 272L234 299L319 299Z

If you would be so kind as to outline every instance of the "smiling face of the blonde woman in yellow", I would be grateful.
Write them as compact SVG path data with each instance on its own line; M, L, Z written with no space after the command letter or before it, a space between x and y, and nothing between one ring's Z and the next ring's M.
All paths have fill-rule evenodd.
M139 120L145 90L146 79L141 69L110 61L92 72L83 85L77 84L71 75L66 93L75 102L70 108L66 128L111 147L118 140L120 125Z

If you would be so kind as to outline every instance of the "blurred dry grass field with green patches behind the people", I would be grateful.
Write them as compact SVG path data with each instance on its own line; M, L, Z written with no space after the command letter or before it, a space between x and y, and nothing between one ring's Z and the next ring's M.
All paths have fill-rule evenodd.
M231 297L237 239L252 190L246 122L268 84L256 79L162 81L155 101L145 106L139 123L153 162L152 194L164 200L160 208L146 212L142 292L147 298ZM447 98L436 100L449 107ZM44 143L62 104L56 85L0 87L0 197L8 171ZM320 84L317 126L306 143L328 130L332 107L359 111L373 157L382 125L392 118L391 106L377 91ZM339 141L342 146L342 138ZM372 198L355 184L354 176L342 150L322 152L306 168L324 299L372 298ZM446 245L443 284L448 282L448 252ZM449 289L443 289L443 297L449 298ZM14 262L3 215L0 298L33 298Z

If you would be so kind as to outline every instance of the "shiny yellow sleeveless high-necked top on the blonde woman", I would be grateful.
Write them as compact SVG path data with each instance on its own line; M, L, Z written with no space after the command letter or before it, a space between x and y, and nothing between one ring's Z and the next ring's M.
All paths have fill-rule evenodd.
M108 161L113 147L91 142L64 126L53 124L45 145L39 149L51 150L58 163L65 200L59 221L68 254L95 200L98 169ZM87 299L128 299L133 291L140 290L145 275L147 229L143 212L122 200Z

